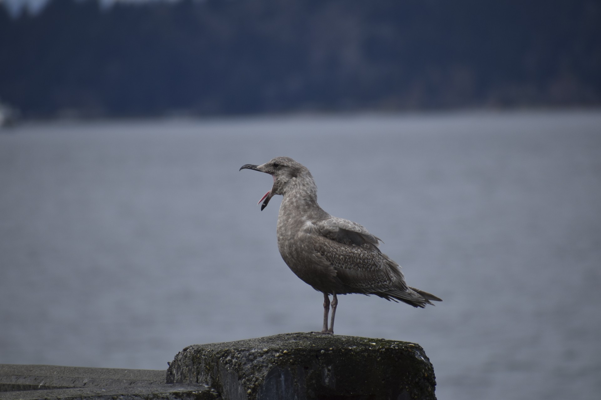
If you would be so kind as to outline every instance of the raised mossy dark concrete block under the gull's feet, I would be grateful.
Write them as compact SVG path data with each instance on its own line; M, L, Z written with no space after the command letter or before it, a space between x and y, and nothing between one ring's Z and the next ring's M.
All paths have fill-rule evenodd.
M287 333L192 345L167 383L206 384L224 400L436 399L432 363L418 344Z

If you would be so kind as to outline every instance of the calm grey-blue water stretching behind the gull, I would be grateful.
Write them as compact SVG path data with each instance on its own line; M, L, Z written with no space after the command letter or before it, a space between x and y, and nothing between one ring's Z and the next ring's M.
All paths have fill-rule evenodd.
M0 363L166 369L189 344L319 330L278 254L287 155L385 241L413 309L341 296L336 332L415 341L439 399L597 399L601 112L23 125L0 131Z

